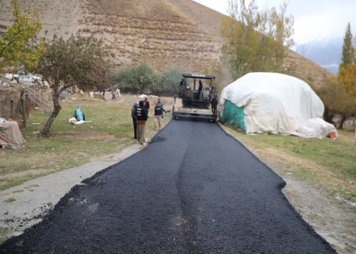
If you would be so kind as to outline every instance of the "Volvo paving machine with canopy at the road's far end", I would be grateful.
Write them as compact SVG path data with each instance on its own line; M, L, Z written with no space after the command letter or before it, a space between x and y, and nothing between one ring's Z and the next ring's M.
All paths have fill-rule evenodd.
M212 86L214 79L212 75L183 73L179 90L182 107L173 106L173 119L202 118L215 121L216 115L210 109L211 100L214 97Z

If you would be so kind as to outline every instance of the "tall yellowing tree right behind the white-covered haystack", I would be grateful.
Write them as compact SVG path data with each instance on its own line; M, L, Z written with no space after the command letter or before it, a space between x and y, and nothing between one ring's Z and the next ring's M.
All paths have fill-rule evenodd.
M293 17L286 17L287 5L259 11L255 0L229 2L230 17L223 19L223 58L232 66L234 78L248 72L281 72L286 50L293 44Z

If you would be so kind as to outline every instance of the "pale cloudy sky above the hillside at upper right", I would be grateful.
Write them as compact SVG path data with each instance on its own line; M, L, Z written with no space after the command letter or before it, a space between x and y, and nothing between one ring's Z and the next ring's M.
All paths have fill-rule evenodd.
M193 0L227 15L229 0ZM248 0L246 0L248 3ZM258 8L278 8L283 0L255 0ZM356 0L289 0L287 15L294 17L293 40L296 45L342 37L350 22L356 35Z

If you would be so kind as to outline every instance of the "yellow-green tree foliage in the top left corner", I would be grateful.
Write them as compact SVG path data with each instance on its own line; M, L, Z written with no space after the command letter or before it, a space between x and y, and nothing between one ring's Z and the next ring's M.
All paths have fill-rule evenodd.
M41 30L38 11L35 10L32 16L21 13L17 0L12 1L12 6L13 24L0 36L0 68L18 63L31 68L36 66L44 49L44 41L38 44L37 40Z

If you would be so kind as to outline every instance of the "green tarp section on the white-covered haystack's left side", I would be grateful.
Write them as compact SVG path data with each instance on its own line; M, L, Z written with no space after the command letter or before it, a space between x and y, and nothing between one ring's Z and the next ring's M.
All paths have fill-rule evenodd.
M220 120L225 124L238 126L246 132L244 107L238 107L232 102L226 100L224 103L223 115L220 117Z

